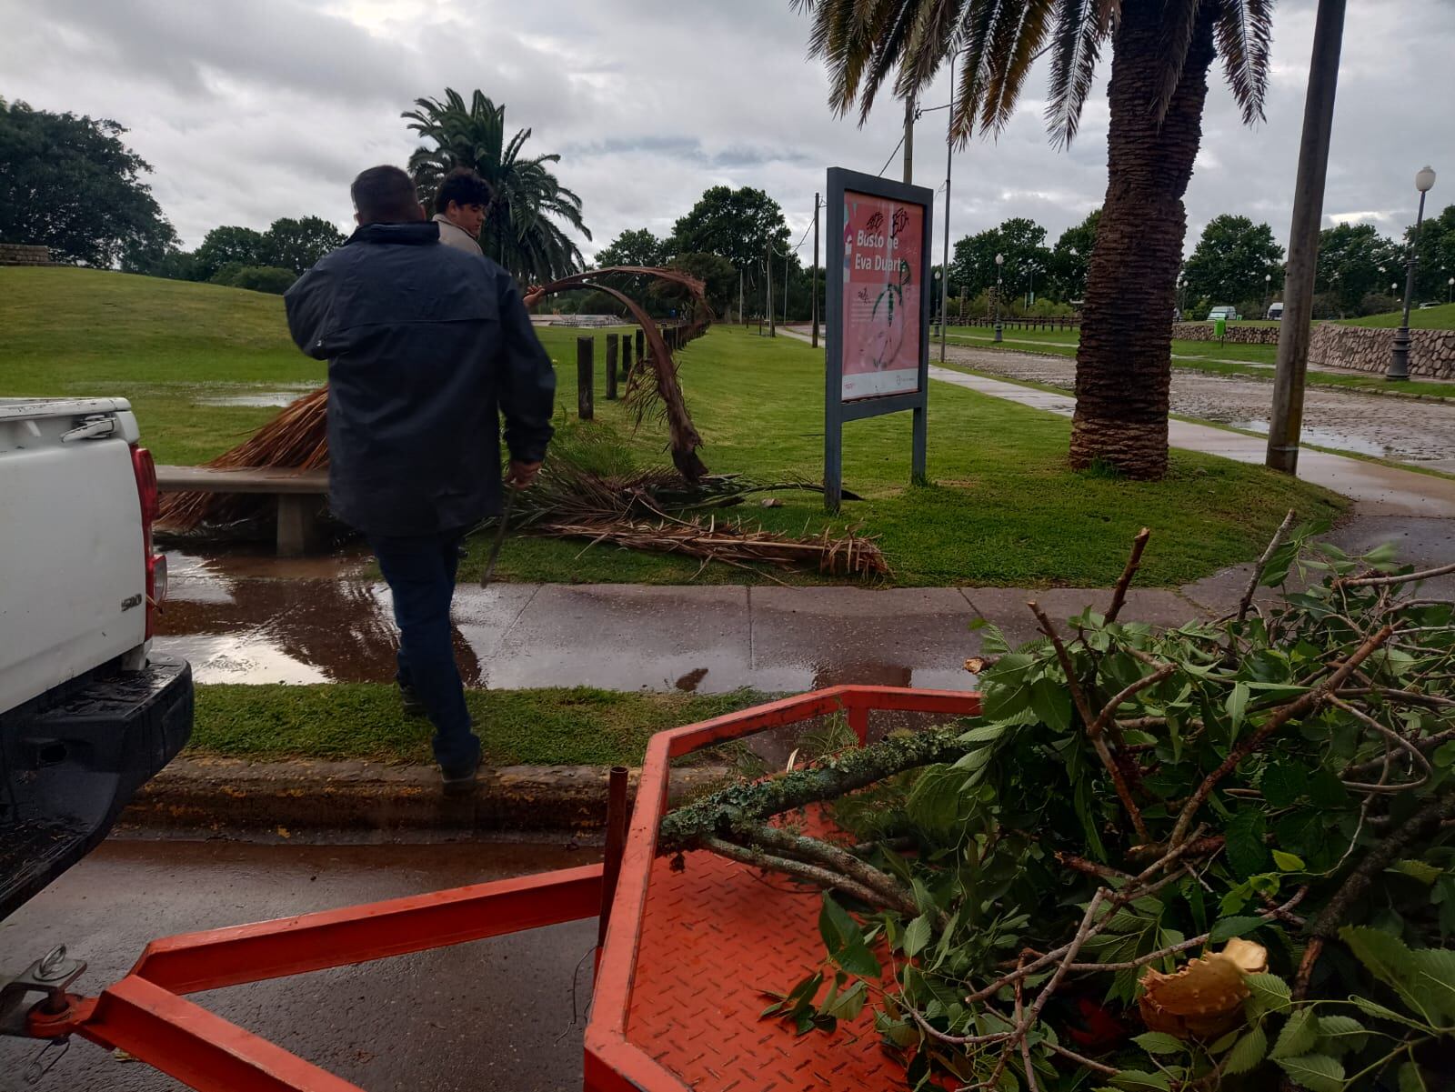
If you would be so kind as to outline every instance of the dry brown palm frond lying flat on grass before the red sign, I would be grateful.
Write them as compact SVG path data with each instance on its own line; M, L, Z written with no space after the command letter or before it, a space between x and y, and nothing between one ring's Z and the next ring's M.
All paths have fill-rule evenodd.
M716 518L662 519L655 522L613 519L601 522L543 522L531 534L550 538L583 538L591 545L613 542L627 550L685 554L703 563L732 566L768 563L781 569L816 570L829 576L873 579L890 576L879 545L851 532L832 537L828 529L816 539L794 539L742 521Z

